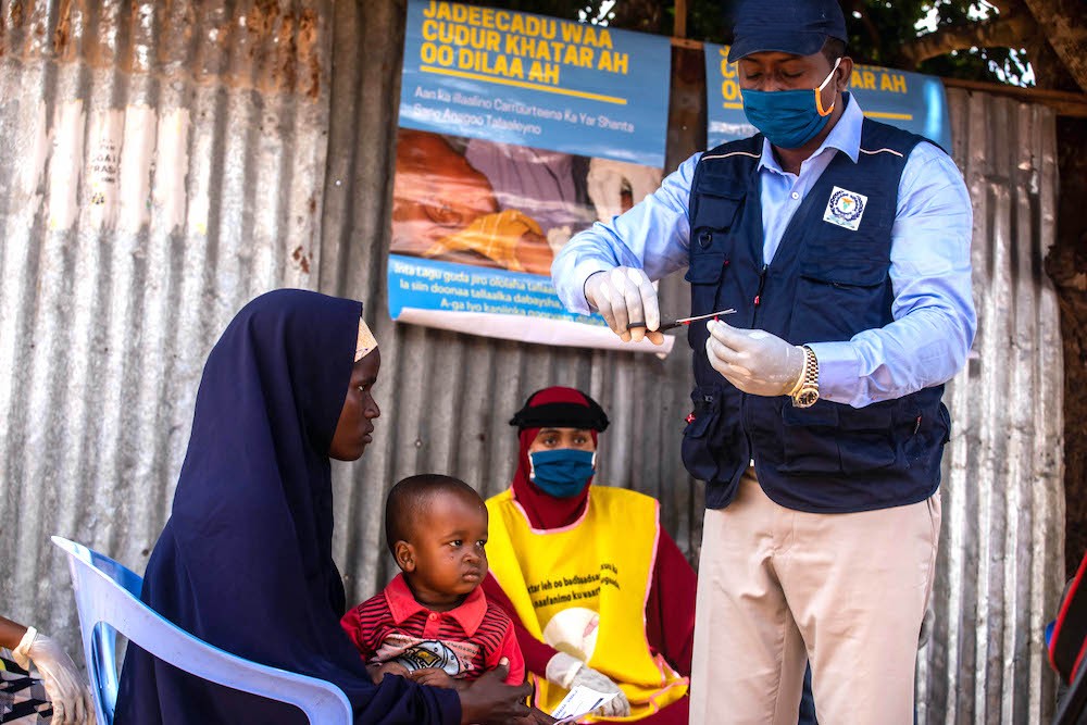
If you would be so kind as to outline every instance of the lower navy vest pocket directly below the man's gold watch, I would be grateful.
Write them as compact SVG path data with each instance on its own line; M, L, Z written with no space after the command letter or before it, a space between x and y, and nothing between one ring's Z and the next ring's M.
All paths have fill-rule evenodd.
M782 473L862 474L895 465L891 409L853 409L829 402L782 408L785 463Z

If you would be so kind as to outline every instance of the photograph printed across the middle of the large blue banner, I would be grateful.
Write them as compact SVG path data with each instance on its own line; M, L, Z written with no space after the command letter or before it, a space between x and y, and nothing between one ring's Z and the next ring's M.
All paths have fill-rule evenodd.
M573 235L660 183L651 166L401 128L390 251L550 275Z

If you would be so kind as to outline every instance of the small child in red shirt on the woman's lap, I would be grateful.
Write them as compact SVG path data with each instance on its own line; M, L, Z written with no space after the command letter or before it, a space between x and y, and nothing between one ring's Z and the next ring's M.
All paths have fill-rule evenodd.
M524 682L513 623L479 587L487 575L479 495L450 476L404 478L385 503L385 536L401 573L340 621L374 682L392 673L460 689L502 658L505 682Z

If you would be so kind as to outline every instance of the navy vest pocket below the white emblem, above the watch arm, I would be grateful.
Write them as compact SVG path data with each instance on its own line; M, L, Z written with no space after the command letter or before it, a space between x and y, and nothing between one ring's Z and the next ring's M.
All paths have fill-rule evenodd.
M804 260L797 282L790 339L848 340L890 316L888 264L871 259Z

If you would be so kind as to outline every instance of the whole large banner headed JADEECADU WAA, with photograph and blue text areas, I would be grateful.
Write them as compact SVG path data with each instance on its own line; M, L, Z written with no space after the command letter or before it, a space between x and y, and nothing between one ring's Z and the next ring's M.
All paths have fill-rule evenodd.
M555 253L660 185L666 38L411 0L388 272L393 320L548 345L623 343L565 311ZM671 338L669 339L671 342Z

